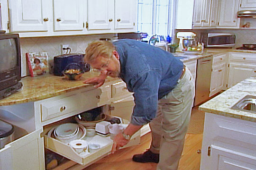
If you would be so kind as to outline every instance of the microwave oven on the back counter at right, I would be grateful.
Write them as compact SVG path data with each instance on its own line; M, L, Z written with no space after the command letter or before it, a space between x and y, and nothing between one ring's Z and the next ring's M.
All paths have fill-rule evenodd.
M202 42L205 47L234 47L236 34L232 33L202 33Z

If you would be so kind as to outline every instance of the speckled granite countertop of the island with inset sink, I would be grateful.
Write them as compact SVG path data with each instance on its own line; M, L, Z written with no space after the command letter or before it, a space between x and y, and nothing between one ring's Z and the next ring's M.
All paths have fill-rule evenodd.
M243 80L237 85L229 88L227 91L212 98L208 102L203 103L199 106L199 110L231 118L256 122L256 113L230 109L246 95L256 96L255 87L256 77L247 78L246 80Z

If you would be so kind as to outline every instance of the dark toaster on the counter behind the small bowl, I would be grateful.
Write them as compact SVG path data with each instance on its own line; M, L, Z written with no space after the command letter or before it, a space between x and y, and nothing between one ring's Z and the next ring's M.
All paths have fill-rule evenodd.
M71 63L77 63L82 68L82 73L90 71L90 65L83 60L84 54L62 54L54 57L54 75L64 76L63 70Z

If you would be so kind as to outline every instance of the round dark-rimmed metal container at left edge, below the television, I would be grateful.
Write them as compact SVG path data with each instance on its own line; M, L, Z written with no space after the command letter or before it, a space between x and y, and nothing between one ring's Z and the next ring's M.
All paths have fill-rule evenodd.
M0 120L0 149L14 140L14 127Z

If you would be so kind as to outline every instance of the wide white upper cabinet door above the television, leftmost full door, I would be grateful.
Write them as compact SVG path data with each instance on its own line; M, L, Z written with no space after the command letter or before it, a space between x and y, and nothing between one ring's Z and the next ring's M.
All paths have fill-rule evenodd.
M10 31L48 31L50 0L9 0Z

